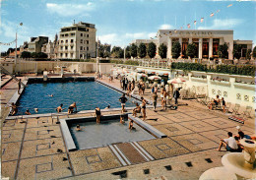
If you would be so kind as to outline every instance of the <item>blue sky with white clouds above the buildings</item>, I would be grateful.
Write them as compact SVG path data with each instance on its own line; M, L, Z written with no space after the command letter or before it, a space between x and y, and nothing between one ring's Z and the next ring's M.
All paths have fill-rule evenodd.
M60 28L82 21L96 25L102 43L124 47L158 30L233 30L234 39L256 43L255 1L198 0L0 0L0 42L18 46L32 36L54 39ZM231 5L227 7L228 5ZM220 10L220 11L219 11ZM213 17L210 15L214 13ZM204 22L200 23L201 18ZM194 26L194 21L197 21ZM20 26L23 23L23 26ZM255 45L255 44L254 44ZM12 45L1 45L6 51Z

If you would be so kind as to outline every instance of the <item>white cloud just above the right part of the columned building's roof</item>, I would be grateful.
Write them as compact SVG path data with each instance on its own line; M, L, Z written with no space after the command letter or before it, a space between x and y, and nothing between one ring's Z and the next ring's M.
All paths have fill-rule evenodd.
M210 27L198 27L198 30L226 30L232 29L243 23L241 19L215 19L214 23Z

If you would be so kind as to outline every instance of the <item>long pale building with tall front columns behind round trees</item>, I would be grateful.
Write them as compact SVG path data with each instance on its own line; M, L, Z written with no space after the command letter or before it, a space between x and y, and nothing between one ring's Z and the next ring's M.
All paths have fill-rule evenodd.
M147 42L143 39L133 40L133 42L139 41ZM252 40L233 40L233 30L159 30L157 39L149 39L149 41L154 41L157 49L161 43L166 45L167 58L172 58L171 47L176 41L181 45L181 55L185 54L189 43L194 43L197 48L196 58L200 59L218 57L218 47L224 43L228 45L228 59L233 59L234 44L243 44L244 51L252 49Z

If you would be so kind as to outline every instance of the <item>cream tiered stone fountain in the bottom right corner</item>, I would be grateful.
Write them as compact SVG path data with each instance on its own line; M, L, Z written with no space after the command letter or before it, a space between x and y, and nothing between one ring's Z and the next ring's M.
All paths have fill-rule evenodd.
M240 144L244 147L243 152L224 154L222 158L224 167L215 167L205 171L200 176L200 180L225 179L227 174L228 179L256 179L256 143L252 140L242 139Z

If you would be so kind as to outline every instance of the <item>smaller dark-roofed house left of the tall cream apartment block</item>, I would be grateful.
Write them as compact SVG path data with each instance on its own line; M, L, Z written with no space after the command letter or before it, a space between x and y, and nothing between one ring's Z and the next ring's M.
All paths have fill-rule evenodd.
M47 36L38 36L38 37L31 37L31 42L29 42L29 52L41 52L42 44L48 42L49 37Z

